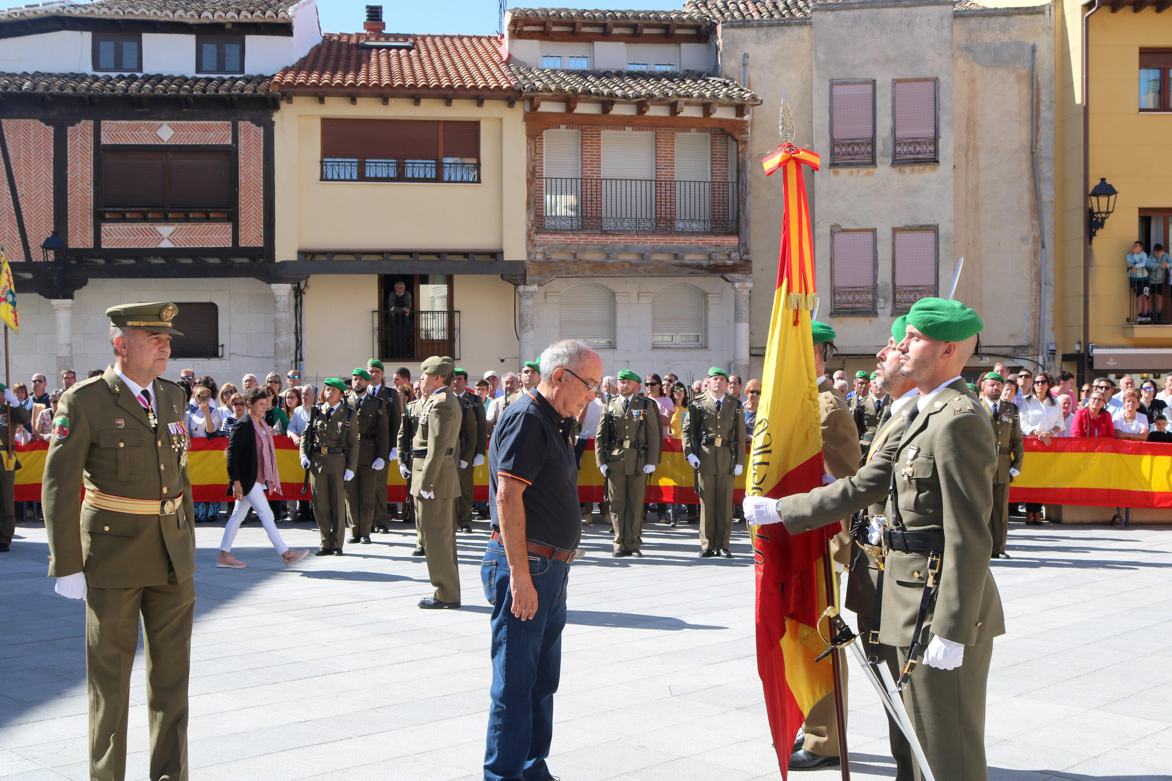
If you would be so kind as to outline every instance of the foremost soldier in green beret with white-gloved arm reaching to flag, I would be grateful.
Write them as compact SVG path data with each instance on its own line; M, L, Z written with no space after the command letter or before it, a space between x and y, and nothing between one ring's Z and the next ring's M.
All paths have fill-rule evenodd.
M885 550L879 642L898 649L904 703L928 765L936 777L976 781L989 777L986 691L993 638L1004 632L988 559L997 448L989 417L960 377L981 327L959 301L912 306L898 349L900 371L920 396L894 452L885 519L873 519L870 534ZM873 460L854 481L884 468ZM813 506L815 494L833 489L816 489ZM750 496L744 506L751 522L781 520L792 534L832 523L850 508L843 501L832 512L805 513L796 505Z

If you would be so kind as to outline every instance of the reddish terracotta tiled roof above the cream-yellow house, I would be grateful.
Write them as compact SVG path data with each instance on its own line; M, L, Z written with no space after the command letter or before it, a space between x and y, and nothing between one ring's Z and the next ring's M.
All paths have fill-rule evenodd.
M407 49L364 42L409 42ZM274 91L291 89L450 90L511 93L517 82L493 35L369 35L328 33L321 43L273 76Z

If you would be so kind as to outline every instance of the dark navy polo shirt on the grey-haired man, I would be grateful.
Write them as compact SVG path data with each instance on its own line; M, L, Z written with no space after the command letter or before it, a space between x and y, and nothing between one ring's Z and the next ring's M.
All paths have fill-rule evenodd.
M573 418L563 418L537 392L527 391L504 411L492 429L489 446L489 513L497 518L497 478L506 474L526 484L525 536L561 550L573 550L581 540L578 506L578 463L572 441Z

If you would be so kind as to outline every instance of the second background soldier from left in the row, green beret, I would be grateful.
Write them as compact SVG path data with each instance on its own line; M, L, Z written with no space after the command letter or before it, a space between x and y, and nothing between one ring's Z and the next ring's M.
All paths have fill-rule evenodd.
M346 484L346 505L350 518L350 542L370 544L376 512L387 512L387 459L390 458L390 410L384 399L370 392L370 372L359 366L350 376L347 405L354 410L352 427L357 429L359 464L354 479Z

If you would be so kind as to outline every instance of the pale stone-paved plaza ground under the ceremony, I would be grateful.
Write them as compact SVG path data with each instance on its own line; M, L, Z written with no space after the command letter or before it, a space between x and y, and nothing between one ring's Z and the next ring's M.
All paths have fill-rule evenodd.
M486 534L461 535L464 608L430 592L402 523L345 557L286 570L245 526L245 570L213 566L223 525L198 528L192 779L478 779L489 705ZM564 781L777 779L754 656L744 527L731 561L699 560L696 528L645 527L642 560L614 560L602 527L572 568L551 769ZM316 530L281 525L315 547ZM989 686L990 776L1172 776L1172 530L1010 528L994 567L1008 635ZM0 557L0 776L87 777L83 605L53 594L40 525ZM128 779L146 773L142 649ZM852 774L894 775L870 685L850 686ZM839 772L796 774L838 779ZM945 781L941 779L940 781Z

